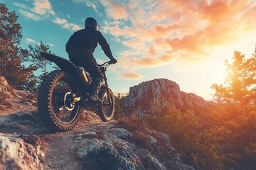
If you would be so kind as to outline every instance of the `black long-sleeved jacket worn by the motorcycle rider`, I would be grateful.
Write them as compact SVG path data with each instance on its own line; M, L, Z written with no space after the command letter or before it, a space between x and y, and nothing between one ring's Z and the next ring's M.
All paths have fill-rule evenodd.
M100 31L92 28L85 28L75 32L66 44L66 52L70 54L73 51L81 50L93 53L98 42L102 47L102 50L105 52L105 55L112 59L112 52L107 40Z

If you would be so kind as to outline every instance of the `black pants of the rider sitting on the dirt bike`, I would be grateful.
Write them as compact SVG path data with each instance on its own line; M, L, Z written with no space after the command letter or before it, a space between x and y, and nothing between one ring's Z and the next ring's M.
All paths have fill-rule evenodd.
M92 81L95 81L95 79L103 80L103 73L100 71L100 67L97 65L95 57L93 57L91 52L70 52L68 57L76 66L83 67L86 72L89 72Z

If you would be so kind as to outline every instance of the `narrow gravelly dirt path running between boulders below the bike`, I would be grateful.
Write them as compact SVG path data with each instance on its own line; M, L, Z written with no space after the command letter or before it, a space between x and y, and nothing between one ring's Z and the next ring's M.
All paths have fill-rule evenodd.
M80 121L72 131L40 135L41 139L44 139L48 145L46 159L43 159L44 167L46 169L80 169L82 163L78 157L75 157L74 153L71 153L70 149L74 142L78 142L75 138L87 132L111 128L114 124L114 122L95 123Z

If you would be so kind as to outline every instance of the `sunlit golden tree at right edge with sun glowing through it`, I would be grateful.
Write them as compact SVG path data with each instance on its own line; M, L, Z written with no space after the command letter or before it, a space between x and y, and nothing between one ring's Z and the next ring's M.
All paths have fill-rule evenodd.
M255 102L256 98L256 47L250 58L235 51L233 62L225 61L226 77L224 84L213 84L214 98L219 103Z

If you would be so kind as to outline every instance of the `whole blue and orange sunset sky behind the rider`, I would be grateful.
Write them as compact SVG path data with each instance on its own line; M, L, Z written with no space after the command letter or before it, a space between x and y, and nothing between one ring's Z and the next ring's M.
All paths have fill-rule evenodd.
M256 45L255 0L1 0L16 11L21 47L43 41L65 58L65 43L93 17L118 63L108 67L114 92L165 78L181 91L213 98L225 81L225 60L238 50L251 57ZM108 61L100 45L97 62ZM50 71L50 70L48 70Z

